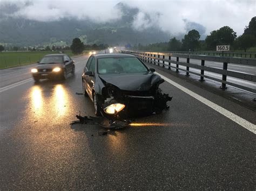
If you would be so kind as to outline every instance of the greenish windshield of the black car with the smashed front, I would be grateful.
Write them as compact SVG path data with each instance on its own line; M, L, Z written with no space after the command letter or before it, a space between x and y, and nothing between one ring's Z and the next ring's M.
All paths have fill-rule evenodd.
M149 72L137 58L101 58L98 59L99 74L120 74Z

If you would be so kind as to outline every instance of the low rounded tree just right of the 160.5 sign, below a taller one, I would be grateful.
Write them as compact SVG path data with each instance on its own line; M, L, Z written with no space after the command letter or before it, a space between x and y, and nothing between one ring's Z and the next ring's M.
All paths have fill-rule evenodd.
M235 39L235 47L242 48L246 52L247 48L250 48L256 44L256 37L252 34L242 34L242 36Z

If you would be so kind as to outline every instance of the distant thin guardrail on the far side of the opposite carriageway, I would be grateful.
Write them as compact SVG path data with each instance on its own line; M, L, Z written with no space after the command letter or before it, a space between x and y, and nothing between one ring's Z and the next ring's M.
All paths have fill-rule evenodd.
M135 52L149 52L149 51L137 51ZM196 52L185 52L185 51L159 51L161 53L173 53L173 54L190 54L190 55L208 55L208 56L232 56L240 58L256 58L256 52L233 52L233 51L196 51Z

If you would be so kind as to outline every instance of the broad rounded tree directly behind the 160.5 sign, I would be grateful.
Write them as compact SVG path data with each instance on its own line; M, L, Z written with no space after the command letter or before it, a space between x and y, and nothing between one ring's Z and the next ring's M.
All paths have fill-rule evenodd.
M209 36L205 38L205 43L208 49L215 49L217 45L233 45L237 33L229 26L221 27L217 31L212 31Z

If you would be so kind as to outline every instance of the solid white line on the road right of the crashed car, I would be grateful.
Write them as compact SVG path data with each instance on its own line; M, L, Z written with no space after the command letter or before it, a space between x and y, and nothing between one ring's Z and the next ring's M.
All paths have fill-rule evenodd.
M206 98L194 93L193 91L181 86L180 84L170 80L169 78L159 74L156 72L159 76L161 76L166 82L169 82L171 85L175 86L176 88L180 89L181 91L184 91L186 94L196 98L201 103L204 103L208 107L214 109L215 111L219 112L220 114L224 115L225 117L231 119L233 122L241 125L243 128L253 132L256 134L256 125L248 122L246 119L239 117L238 115L233 114L231 111L226 110L225 108L211 102L210 100L207 100Z

